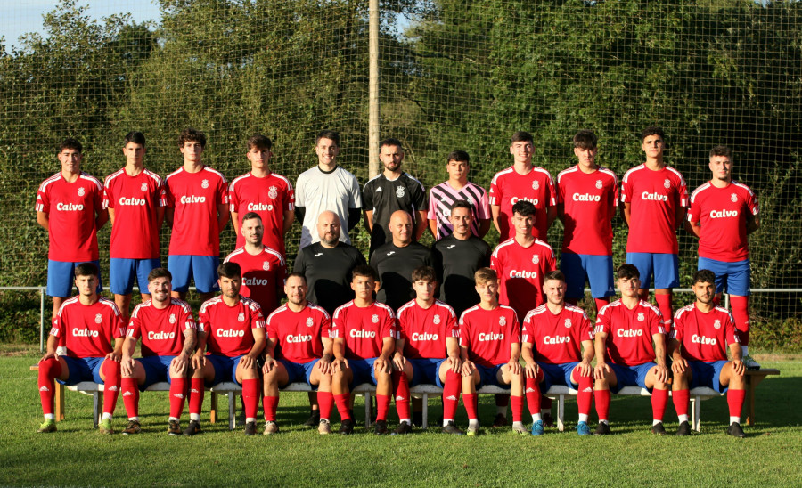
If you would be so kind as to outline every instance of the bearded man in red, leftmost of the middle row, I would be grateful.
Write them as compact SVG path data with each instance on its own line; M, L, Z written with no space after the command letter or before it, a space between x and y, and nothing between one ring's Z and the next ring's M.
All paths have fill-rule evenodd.
M281 303L287 265L282 253L262 243L265 227L256 212L242 216L240 233L245 245L228 256L225 263L236 263L242 270L242 297L259 304L262 313L273 312Z

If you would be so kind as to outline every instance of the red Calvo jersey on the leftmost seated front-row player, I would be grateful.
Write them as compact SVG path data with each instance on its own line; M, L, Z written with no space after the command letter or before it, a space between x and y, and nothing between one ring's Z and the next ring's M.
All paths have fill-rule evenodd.
M93 305L83 305L72 297L61 304L50 335L59 338L70 357L104 357L113 351L112 338L126 336L126 326L113 300L99 297Z

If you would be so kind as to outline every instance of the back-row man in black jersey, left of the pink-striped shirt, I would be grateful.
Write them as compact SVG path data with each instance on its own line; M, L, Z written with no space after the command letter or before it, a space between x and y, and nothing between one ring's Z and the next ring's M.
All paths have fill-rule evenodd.
M397 210L404 210L413 216L413 239L421 239L426 231L426 191L423 185L401 170L404 150L397 139L379 142L379 159L384 171L364 184L362 191L364 223L371 232L372 256L379 246L390 242L392 235L387 232L390 216Z

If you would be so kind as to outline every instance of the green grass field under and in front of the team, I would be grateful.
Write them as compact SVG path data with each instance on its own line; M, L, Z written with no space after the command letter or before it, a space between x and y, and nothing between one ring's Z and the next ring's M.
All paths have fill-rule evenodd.
M759 358L759 356L758 356ZM209 396L204 434L170 437L167 394L142 396L141 435L99 435L92 428L92 399L68 392L67 420L59 431L37 435L41 422L35 373L37 355L0 356L0 484L69 486L268 485L462 485L462 486L799 486L802 485L802 360L762 358L782 370L757 389L757 425L746 439L724 435L724 398L702 404L700 435L651 435L648 398L614 398L615 435L582 437L547 430L542 437L486 429L477 437L442 435L436 427L413 435L377 437L357 427L355 435L321 436L300 427L308 415L306 394L284 394L279 406L282 434L245 437L227 422L211 426ZM361 419L357 399L357 419ZM221 406L225 407L225 402ZM430 402L437 419L439 402ZM487 423L492 396L480 399ZM568 428L577 407L567 402ZM222 412L225 419L225 411ZM187 415L184 414L183 425ZM667 409L667 429L676 416ZM390 415L391 427L397 420ZM595 423L594 415L592 417ZM458 425L467 423L460 407ZM260 427L263 424L260 423ZM122 401L115 427L125 427ZM339 427L334 420L334 427ZM261 429L260 429L261 431Z

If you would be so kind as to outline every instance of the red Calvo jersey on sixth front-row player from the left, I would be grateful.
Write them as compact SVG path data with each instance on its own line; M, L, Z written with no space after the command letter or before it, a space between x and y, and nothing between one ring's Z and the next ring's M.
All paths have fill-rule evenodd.
M429 308L412 300L398 309L397 339L404 339L404 357L410 359L445 359L446 338L459 338L456 313L435 300Z

